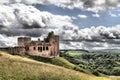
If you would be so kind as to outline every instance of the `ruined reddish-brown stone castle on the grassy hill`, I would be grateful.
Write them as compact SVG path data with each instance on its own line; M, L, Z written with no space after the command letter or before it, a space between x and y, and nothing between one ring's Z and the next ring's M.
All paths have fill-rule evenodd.
M43 41L38 39L32 41L30 37L19 37L18 46L10 47L10 53L20 53L28 55L36 55L42 57L55 57L59 56L59 36L50 32L47 38Z

